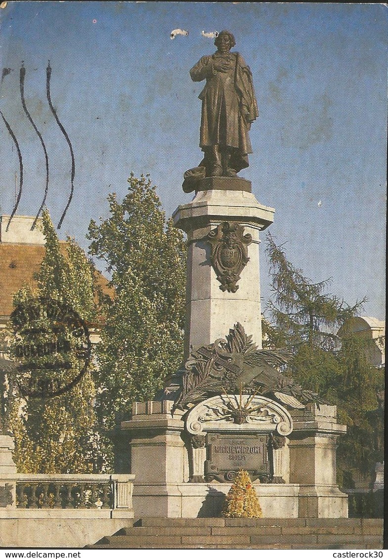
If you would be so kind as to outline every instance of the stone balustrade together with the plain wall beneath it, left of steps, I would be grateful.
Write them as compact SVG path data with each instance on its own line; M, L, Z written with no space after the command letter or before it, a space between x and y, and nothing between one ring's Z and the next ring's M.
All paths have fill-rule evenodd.
M134 518L134 475L0 471L0 547L84 547Z

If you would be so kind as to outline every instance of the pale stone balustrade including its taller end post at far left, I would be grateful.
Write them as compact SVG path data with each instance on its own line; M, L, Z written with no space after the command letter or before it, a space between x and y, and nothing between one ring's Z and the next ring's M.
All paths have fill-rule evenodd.
M65 522L74 518L134 517L134 475L18 473L12 459L13 448L12 437L0 435L0 528L2 519L6 522L56 518Z

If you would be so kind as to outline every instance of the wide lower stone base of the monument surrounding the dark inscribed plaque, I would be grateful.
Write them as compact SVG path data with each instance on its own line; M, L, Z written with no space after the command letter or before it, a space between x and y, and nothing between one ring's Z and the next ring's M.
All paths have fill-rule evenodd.
M217 411L217 398L185 414L179 410L172 414L172 401L134 404L132 419L123 421L121 429L131 446L135 517L195 518L219 514L230 483L204 483L204 463L211 458L207 455L209 441L205 448L205 434L223 433L226 429L230 435L240 433L239 439L243 439L255 430L264 433L274 427L270 421L268 425L265 421L259 421L259 425L228 421L221 424L217 414L212 418L205 409L207 406ZM278 412L277 434L283 432L287 438L286 446L274 452L273 482L254 482L264 516L346 518L347 495L339 491L335 472L336 439L346 432L346 427L337 424L335 406L318 408L310 404L304 410L292 410L291 419L276 402L257 398L272 410L274 418ZM248 438L246 444L249 446Z

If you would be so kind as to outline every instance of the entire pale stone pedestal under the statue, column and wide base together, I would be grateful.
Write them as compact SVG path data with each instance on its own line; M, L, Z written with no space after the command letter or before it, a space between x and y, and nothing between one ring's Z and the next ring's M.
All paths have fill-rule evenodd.
M195 190L173 215L188 239L185 358L191 348L206 353L203 346L236 323L261 348L259 231L275 210L259 204L244 179L200 179ZM205 390L200 398L174 413L171 400L136 402L121 424L136 480L135 517L215 517L242 466L264 517L347 517L347 495L335 479L336 439L346 427L337 424L335 406L310 405L291 416L261 395L206 397ZM276 447L274 435L287 438L286 446Z

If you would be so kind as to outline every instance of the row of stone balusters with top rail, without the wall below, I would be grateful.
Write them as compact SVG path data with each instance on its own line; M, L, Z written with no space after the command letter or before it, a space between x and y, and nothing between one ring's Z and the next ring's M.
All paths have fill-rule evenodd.
M132 508L134 476L109 474L18 474L18 509Z

